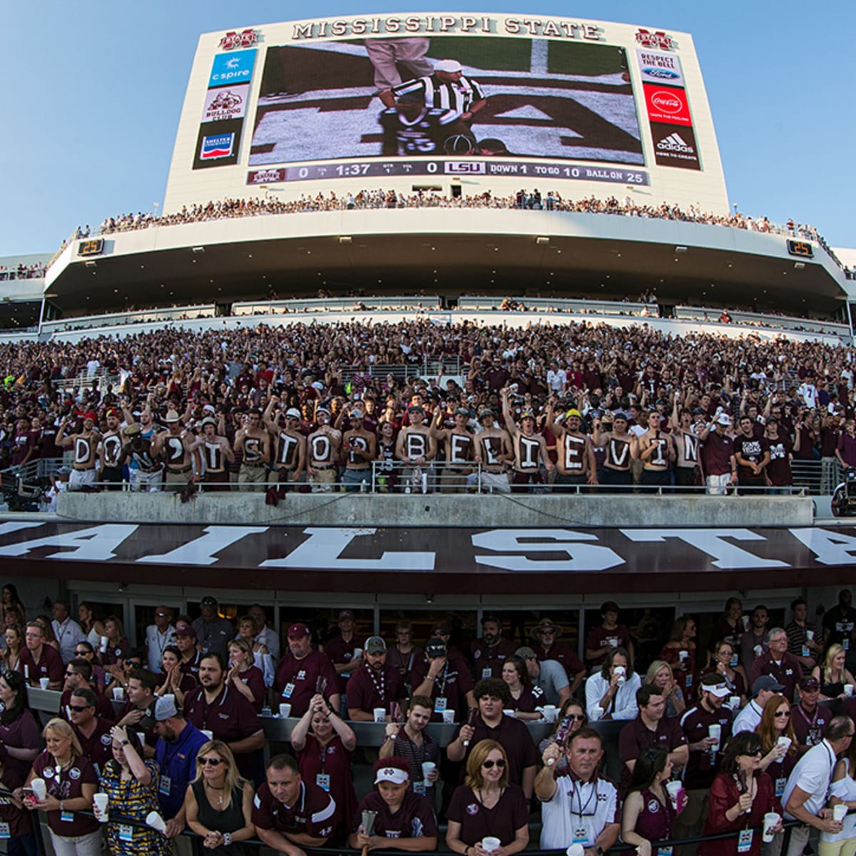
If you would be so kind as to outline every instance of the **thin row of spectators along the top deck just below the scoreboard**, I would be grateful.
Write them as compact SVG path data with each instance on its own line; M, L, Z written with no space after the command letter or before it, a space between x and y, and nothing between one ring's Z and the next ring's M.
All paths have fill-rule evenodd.
M201 223L209 220L222 220L232 217L257 217L264 214L305 214L312 211L365 211L377 208L496 208L524 209L544 211L564 211L585 214L615 214L624 217L645 217L660 220L676 220L684 223L706 223L728 226L732 229L747 229L755 232L770 232L790 235L808 241L817 241L826 253L843 268L841 261L823 240L814 226L794 223L788 220L785 225L771 223L767 217L751 217L739 211L727 215L702 211L697 205L691 205L686 211L679 205L639 205L629 196L620 201L615 196L597 199L595 196L584 199L563 199L560 193L550 190L541 195L537 189L520 190L506 196L496 196L490 190L475 195L446 196L435 191L419 193L401 193L395 190L377 188L360 190L359 193L328 194L322 192L301 194L300 199L276 199L272 195L250 197L249 199L220 199L203 204L183 205L181 211L173 213L119 214L105 217L98 229L98 235L110 235L115 232L128 232L136 229L149 229L152 226L172 226L181 223ZM75 233L78 237L88 237L90 228L80 226ZM847 273L848 276L852 272Z

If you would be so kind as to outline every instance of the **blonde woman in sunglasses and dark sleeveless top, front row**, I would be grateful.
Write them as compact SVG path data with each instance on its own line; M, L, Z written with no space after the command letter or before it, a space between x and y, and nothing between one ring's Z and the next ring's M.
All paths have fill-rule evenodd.
M239 841L256 834L253 825L253 786L245 782L229 746L209 740L196 755L196 776L184 797L187 824L203 836L205 852L220 856L247 853Z

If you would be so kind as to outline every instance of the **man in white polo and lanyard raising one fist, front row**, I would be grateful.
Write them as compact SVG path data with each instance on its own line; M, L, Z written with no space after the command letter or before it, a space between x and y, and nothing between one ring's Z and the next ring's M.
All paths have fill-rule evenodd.
M556 763L564 753L568 775L556 778ZM603 742L593 728L580 728L561 748L544 749L544 766L535 777L541 800L541 849L566 850L581 844L585 856L601 856L615 844L621 818L618 788L597 775Z

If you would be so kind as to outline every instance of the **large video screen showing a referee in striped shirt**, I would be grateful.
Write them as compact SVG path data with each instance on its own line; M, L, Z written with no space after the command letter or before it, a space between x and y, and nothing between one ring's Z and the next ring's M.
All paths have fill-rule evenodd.
M267 49L251 167L420 154L641 165L627 51L467 36Z

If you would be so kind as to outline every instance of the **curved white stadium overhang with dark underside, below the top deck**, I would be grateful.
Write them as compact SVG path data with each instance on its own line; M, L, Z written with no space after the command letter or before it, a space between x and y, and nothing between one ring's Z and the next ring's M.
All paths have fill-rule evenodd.
M832 313L844 277L823 249L715 225L481 209L336 211L247 217L109 235L49 271L64 311L336 294L568 294L653 290L661 303Z

